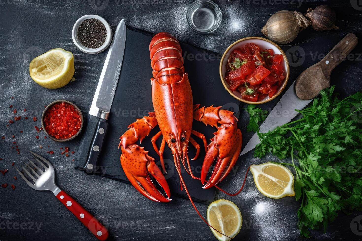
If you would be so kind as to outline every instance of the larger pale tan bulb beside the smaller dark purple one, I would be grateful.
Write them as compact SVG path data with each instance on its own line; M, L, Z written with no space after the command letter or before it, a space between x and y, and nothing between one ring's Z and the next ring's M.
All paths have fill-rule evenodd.
M281 10L274 13L261 30L265 36L279 44L286 44L296 38L310 22L300 12Z

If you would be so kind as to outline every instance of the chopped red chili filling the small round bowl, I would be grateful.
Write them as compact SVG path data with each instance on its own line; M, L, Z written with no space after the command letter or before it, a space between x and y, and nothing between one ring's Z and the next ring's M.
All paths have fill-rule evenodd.
M68 139L75 135L81 125L80 113L66 102L53 104L44 116L46 132L56 139Z

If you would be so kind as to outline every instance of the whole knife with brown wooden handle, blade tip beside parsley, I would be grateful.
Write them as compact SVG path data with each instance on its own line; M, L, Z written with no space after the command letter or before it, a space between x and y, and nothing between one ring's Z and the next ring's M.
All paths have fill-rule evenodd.
M266 133L288 123L298 114L295 109L304 109L322 89L329 87L332 70L344 60L343 58L357 43L357 36L352 33L347 34L319 63L304 70L260 125L259 132ZM255 133L240 156L253 150L259 143L258 133Z

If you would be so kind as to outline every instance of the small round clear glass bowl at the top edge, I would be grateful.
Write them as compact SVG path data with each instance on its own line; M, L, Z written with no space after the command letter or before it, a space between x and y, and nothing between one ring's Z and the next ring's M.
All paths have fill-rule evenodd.
M190 4L186 17L192 30L199 34L210 34L220 26L222 13L214 2L198 0Z

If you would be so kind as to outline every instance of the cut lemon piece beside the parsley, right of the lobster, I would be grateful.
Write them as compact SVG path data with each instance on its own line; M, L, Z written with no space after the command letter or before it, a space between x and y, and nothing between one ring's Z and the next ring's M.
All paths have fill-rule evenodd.
M285 166L267 162L251 165L250 171L253 173L257 189L266 197L283 198L295 195L294 177Z

